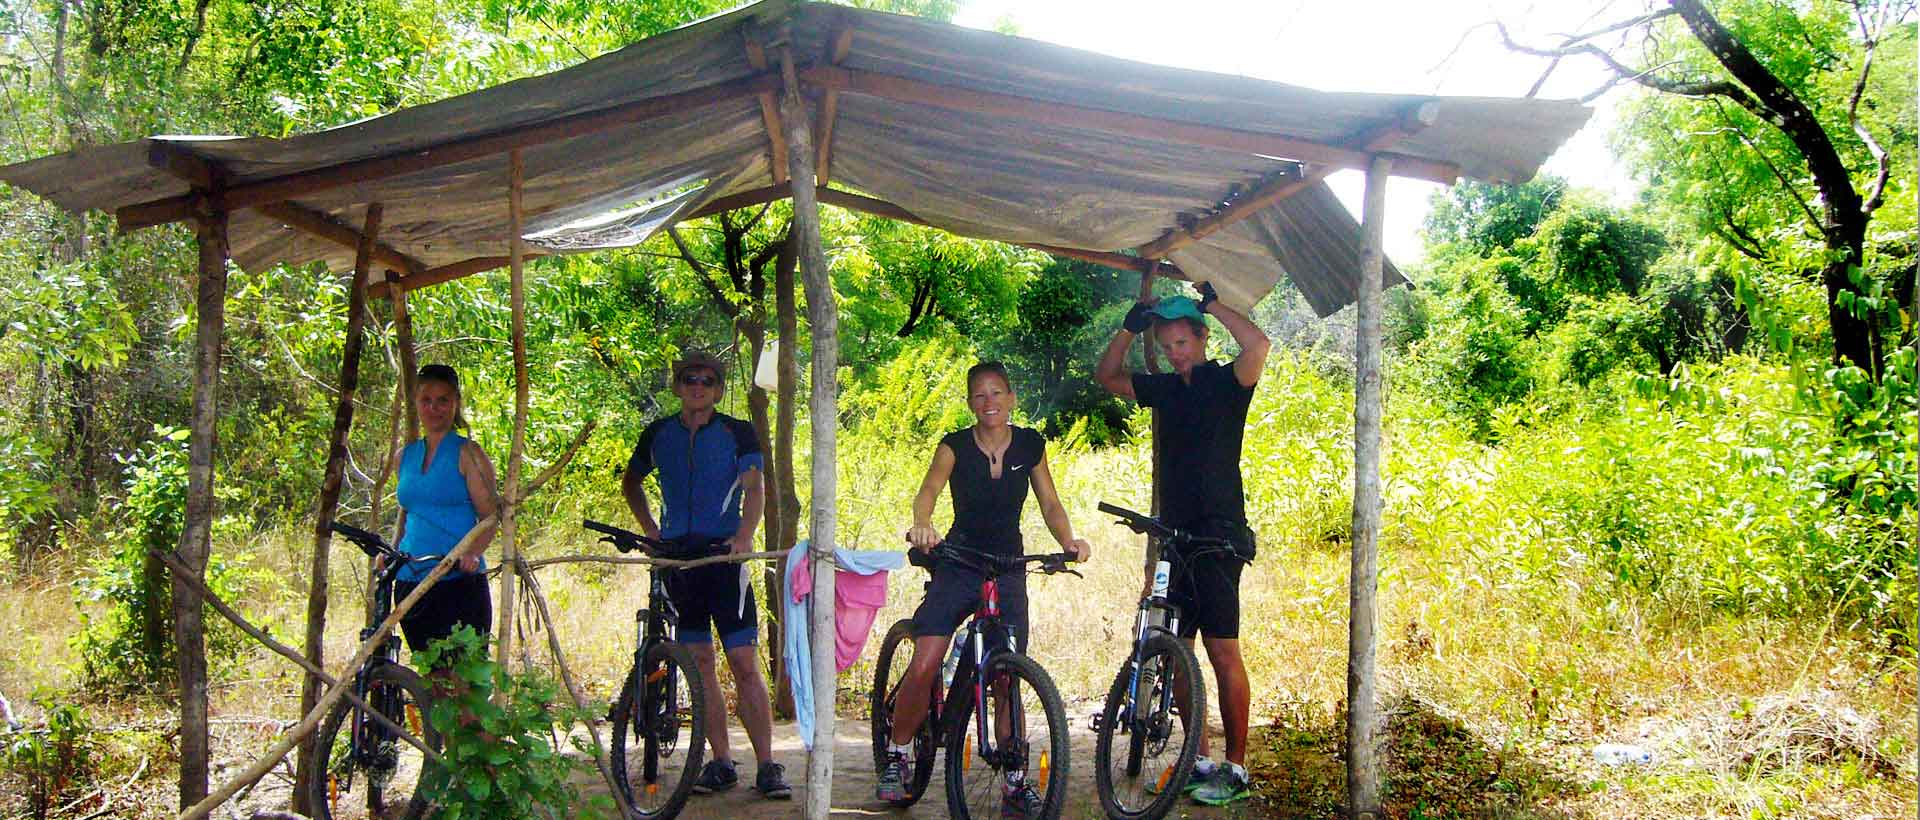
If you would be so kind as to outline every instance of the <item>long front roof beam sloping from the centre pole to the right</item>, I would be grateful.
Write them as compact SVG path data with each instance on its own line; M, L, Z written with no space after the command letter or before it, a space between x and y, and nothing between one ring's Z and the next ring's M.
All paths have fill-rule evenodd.
M1363 169L1373 159L1373 154L1379 154L1288 134L1223 129L1217 125L1183 123L1177 119L1140 113L1068 106L1016 94L954 88L877 71L845 69L839 65L814 65L801 71L801 81L826 90L881 96L887 100L945 108L950 111L1018 117L1035 123L1102 131L1110 134L1173 142L1194 148L1260 154L1281 159L1298 159L1304 163ZM1459 165L1427 157L1394 157L1394 173L1452 184L1452 181L1459 179Z

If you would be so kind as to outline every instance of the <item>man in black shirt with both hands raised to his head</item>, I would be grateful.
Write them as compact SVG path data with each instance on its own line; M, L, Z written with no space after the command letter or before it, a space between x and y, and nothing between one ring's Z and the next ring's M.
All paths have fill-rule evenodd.
M1208 361L1206 315L1213 315L1240 355L1229 365ZM1129 373L1127 346L1154 328L1173 373ZM1254 384L1267 363L1267 334L1238 311L1219 303L1213 288L1200 284L1200 301L1169 296L1135 303L1121 330L1100 355L1094 378L1114 396L1160 411L1154 476L1162 488L1160 517L1196 536L1225 538L1248 561L1254 532L1246 526L1246 494L1240 486L1240 436ZM1202 636L1213 678L1219 682L1219 716L1227 730L1227 762L1213 766L1208 736L1200 732L1200 760L1190 785L1194 799L1225 805L1246 797L1246 716L1250 691L1240 657L1240 561L1194 561L1175 572L1169 599L1187 615L1181 638ZM1204 720L1204 718L1202 718Z

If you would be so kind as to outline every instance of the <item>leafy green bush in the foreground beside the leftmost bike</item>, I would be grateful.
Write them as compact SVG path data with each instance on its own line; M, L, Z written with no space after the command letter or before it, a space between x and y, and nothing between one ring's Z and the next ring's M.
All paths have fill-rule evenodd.
M593 718L563 705L551 680L507 674L488 661L486 638L470 626L434 641L413 663L434 684L426 720L445 743L447 768L430 766L422 778L442 818L607 816L612 810L605 795L580 797L574 776L591 766L549 741L574 722ZM584 741L576 745L593 755Z

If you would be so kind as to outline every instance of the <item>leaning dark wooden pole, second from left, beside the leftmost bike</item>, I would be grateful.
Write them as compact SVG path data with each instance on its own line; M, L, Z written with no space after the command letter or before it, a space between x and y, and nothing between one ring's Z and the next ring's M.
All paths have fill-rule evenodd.
M346 480L348 444L353 434L353 396L359 394L359 359L367 346L367 278L372 269L372 246L380 236L378 202L367 205L367 229L359 232L353 252L353 284L348 286L348 338L340 351L340 394L334 399L334 430L326 440L326 469L321 478L321 503L313 511L313 563L307 576L307 661L323 666L326 647L326 563L334 542L334 511L340 507L340 486ZM300 712L305 714L321 699L321 682L307 678L300 687ZM294 757L294 810L313 814L307 805L307 766L313 760L313 741L300 743Z

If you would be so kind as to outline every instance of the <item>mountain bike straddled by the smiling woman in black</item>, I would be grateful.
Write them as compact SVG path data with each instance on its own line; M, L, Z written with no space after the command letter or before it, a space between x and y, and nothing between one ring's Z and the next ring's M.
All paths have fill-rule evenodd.
M927 718L914 734L914 770L906 799L910 807L933 780L933 757L947 749L947 810L954 818L998 818L1010 789L1031 787L1041 797L1041 818L1058 818L1068 799L1068 716L1060 687L1033 659L1014 651L1000 620L1000 588L995 582L1016 567L1035 565L1037 572L1079 572L1068 568L1071 553L991 555L954 542L933 547L916 565L935 572L941 565L979 572L979 607L954 634L947 664L933 678ZM933 582L927 582L931 588ZM874 670L872 726L874 768L885 768L893 736L893 703L914 657L914 624L902 618L887 630ZM947 699L945 695L952 695ZM975 705L983 705L975 709ZM972 720L968 720L972 718Z

